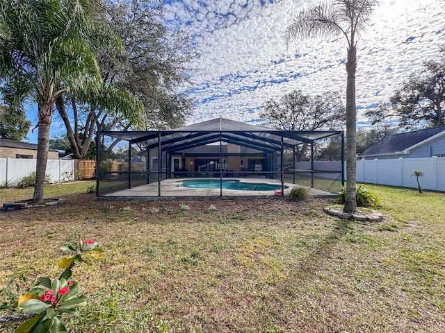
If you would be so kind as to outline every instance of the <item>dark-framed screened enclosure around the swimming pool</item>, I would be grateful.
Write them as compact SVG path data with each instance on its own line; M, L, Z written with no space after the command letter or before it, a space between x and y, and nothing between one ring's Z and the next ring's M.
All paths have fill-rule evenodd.
M271 130L224 118L173 130L97 133L98 198L338 193L343 132Z

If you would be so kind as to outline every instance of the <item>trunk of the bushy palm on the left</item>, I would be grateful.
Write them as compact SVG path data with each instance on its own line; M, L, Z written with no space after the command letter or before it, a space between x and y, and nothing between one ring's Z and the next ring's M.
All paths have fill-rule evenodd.
M38 144L37 167L35 168L35 187L33 203L43 202L44 178L47 174L49 151L49 127L53 118L52 101L40 99L38 103Z

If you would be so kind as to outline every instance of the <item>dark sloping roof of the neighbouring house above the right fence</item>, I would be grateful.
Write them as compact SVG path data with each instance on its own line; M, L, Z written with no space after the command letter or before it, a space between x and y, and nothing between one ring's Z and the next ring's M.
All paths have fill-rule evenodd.
M378 143L366 149L360 156L409 153L410 149L420 146L421 144L426 144L430 140L442 135L445 135L445 126L387 135Z

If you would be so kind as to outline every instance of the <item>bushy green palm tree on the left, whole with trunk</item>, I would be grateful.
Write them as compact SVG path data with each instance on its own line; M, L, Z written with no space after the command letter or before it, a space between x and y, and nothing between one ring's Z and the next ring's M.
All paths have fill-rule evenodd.
M38 148L33 202L43 201L54 101L63 92L99 89L88 0L0 0L8 35L0 43L0 78L38 104ZM27 89L27 94L23 94Z

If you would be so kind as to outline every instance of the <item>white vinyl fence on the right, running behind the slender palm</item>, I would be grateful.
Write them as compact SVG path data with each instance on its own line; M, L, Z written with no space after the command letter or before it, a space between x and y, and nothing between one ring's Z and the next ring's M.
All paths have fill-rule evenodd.
M311 162L298 162L296 168L310 170ZM341 164L340 162L315 161L314 169L341 170ZM423 177L419 177L423 189L445 191L445 157L357 161L357 183L368 182L370 184L416 188L416 177L410 176L413 170L423 172ZM329 177L327 174L324 176Z

